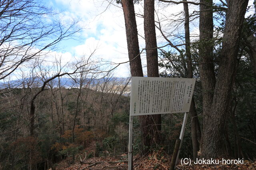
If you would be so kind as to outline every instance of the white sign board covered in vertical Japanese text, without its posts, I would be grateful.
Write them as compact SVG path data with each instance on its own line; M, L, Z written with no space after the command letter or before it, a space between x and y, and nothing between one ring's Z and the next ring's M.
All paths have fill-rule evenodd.
M196 79L132 77L130 115L189 112Z

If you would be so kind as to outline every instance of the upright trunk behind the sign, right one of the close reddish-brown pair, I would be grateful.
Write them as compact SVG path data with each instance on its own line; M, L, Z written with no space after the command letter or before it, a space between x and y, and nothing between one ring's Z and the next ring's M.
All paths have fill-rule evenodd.
M154 0L144 0L144 33L146 42L146 58L148 77L159 77L158 52L154 20ZM161 141L161 115L140 116L143 144L147 147ZM146 150L144 150L146 152Z

